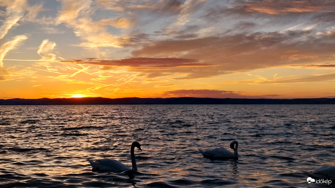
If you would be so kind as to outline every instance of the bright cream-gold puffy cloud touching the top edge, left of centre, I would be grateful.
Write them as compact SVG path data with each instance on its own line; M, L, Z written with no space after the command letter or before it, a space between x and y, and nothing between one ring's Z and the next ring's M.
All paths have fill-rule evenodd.
M126 37L119 37L107 32L106 26L112 25L117 28L129 28L133 21L127 18L102 19L92 21L91 0L60 0L62 10L59 12L58 24L66 23L68 27L74 29L76 36L83 42L72 44L81 47L123 47L129 42Z

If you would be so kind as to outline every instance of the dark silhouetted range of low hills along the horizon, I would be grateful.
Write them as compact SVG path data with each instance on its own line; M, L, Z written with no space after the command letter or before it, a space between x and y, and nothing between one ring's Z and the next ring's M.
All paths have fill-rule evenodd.
M335 104L335 98L317 99L214 99L214 98L119 98L0 99L0 105L220 105L220 104Z

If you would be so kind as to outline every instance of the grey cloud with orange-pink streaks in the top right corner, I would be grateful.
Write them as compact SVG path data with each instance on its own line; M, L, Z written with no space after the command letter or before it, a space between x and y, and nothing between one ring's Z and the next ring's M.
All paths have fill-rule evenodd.
M297 20L300 21L300 24L301 21L308 20L306 22L308 24L325 26L331 26L335 22L333 19L335 1L332 0L237 0L230 2L220 1L215 6L209 7L201 18L212 24L221 22L222 18L247 22L252 20L262 23L263 29L271 26L273 29L283 24L295 23Z

